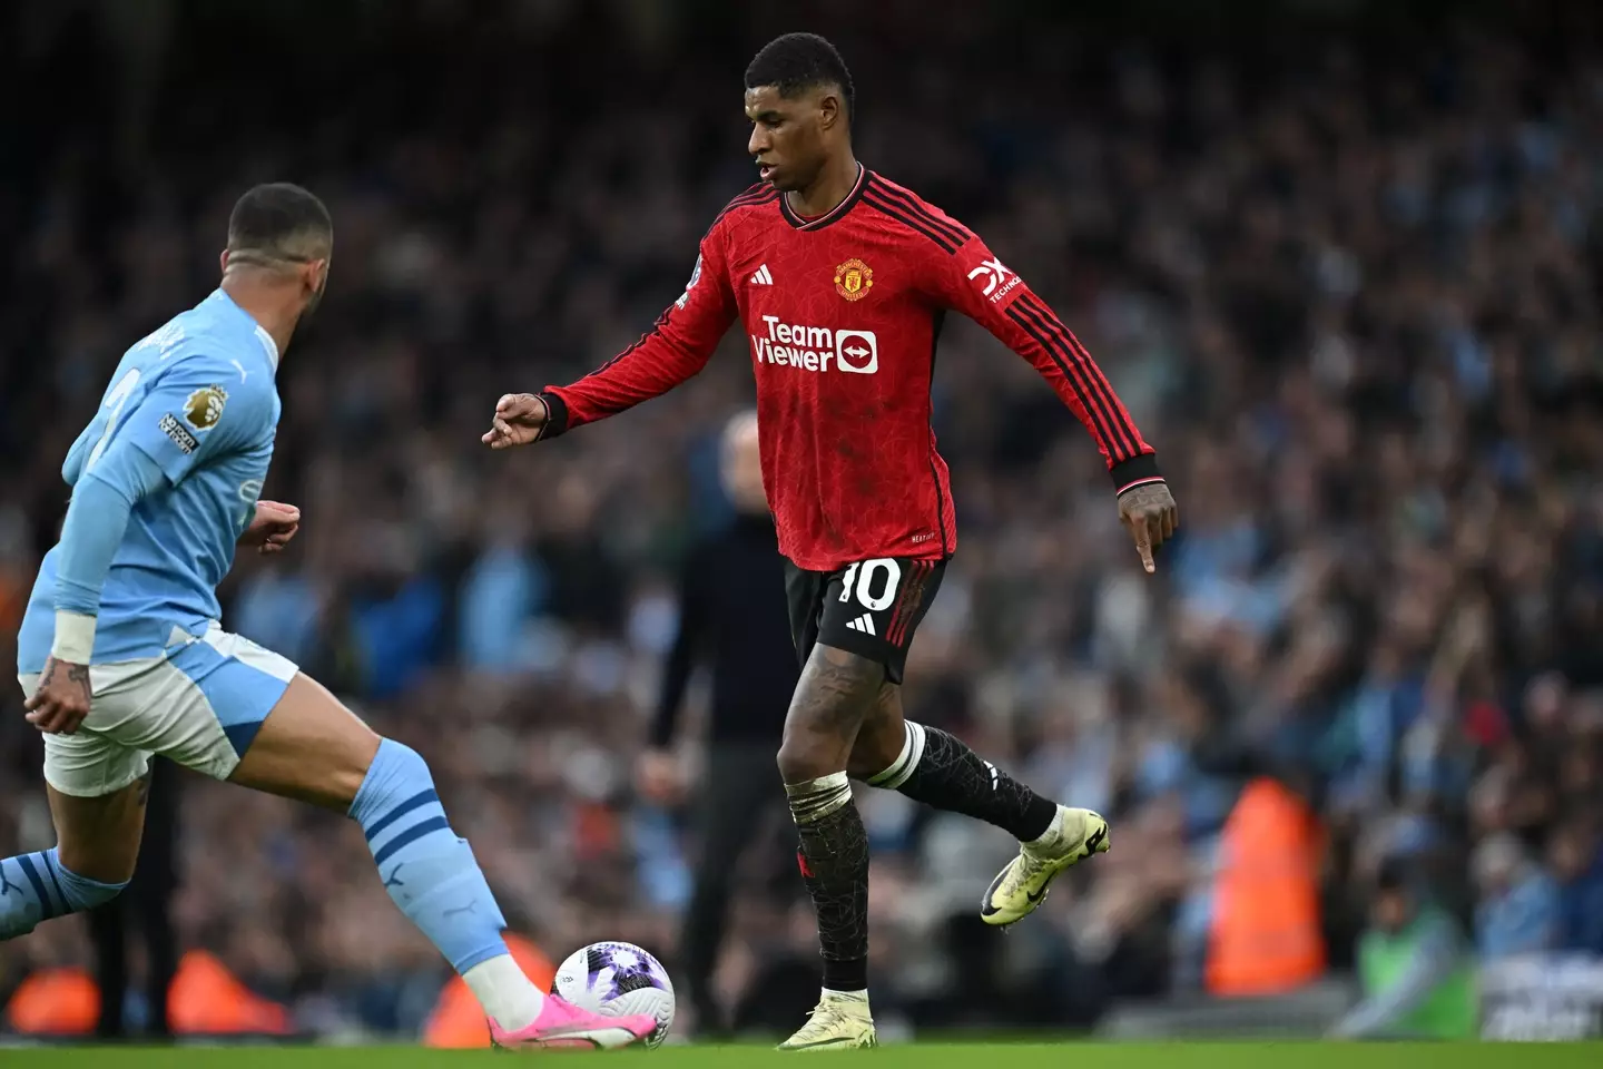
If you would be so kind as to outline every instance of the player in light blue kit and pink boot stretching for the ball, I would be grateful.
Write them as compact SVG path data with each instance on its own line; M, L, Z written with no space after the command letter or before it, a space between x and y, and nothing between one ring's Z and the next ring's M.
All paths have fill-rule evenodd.
M300 511L258 500L274 377L322 300L333 228L298 186L247 192L223 282L149 335L67 452L72 503L18 636L45 736L53 849L0 859L0 939L111 901L133 875L149 756L348 813L396 906L463 976L503 1047L622 1047L656 1027L543 995L446 819L428 764L380 739L293 664L229 635L216 585L236 545L274 553Z

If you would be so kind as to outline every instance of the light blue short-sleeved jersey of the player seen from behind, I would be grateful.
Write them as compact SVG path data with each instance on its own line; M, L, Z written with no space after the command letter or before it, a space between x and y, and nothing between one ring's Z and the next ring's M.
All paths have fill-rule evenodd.
M133 502L127 527L98 606L74 604L66 540L45 556L18 636L19 673L43 668L56 609L98 617L96 665L160 657L207 633L273 458L277 359L271 335L221 290L123 354L61 474L80 494L95 473ZM154 489L125 474L151 463L164 476Z

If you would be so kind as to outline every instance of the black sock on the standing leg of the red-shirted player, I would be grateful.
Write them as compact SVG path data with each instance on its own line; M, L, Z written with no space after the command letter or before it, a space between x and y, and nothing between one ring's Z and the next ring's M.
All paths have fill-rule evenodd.
M869 835L845 773L785 784L802 837L797 864L818 914L826 990L869 987Z

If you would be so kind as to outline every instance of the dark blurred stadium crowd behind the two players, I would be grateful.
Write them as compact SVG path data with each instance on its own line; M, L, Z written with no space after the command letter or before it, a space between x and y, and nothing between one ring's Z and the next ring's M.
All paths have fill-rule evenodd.
M1112 814L1116 846L999 939L975 907L1005 835L866 797L882 1034L1318 1035L1361 994L1387 873L1452 918L1483 1031L1597 1034L1603 10L1116 8L5 5L0 644L117 356L215 284L245 186L300 181L335 271L281 375L266 495L308 521L240 563L229 625L430 756L543 954L627 938L672 968L694 825L638 800L633 761L678 556L728 519L742 346L539 450L478 434L500 393L598 364L680 292L753 180L747 59L813 29L856 75L861 157L1063 313L1185 519L1145 580L1084 431L951 325L963 550L909 704ZM0 763L0 853L48 846L14 689ZM417 1037L446 968L357 830L181 785L181 949L253 992L196 1029ZM789 837L781 809L718 973L757 1031L816 986ZM1318 954L1265 949L1308 931ZM77 922L0 947L5 1027L91 1026L88 962Z

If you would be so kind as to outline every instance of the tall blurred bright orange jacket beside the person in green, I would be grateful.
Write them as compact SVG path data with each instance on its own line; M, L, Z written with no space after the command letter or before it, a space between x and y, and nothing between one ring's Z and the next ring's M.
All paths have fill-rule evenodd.
M1274 995L1324 974L1319 829L1273 779L1247 784L1220 837L1209 931L1212 995Z

